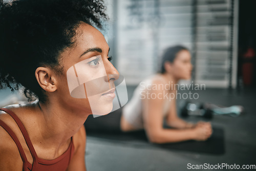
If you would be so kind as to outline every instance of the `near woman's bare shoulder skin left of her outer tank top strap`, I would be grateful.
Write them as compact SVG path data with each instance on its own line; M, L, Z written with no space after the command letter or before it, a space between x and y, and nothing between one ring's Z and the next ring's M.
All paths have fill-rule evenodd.
M23 161L18 147L2 126L0 126L0 137L0 170L22 170Z

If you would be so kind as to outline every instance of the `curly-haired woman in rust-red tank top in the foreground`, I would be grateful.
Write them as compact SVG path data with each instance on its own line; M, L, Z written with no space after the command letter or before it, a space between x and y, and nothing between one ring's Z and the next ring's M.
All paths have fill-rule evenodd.
M0 109L0 170L86 170L83 123L92 110L89 98L72 97L67 74L87 61L90 72L76 75L103 65L106 83L118 79L95 28L101 19L101 1L0 0L0 89L23 87L30 100ZM96 100L111 108L111 93Z

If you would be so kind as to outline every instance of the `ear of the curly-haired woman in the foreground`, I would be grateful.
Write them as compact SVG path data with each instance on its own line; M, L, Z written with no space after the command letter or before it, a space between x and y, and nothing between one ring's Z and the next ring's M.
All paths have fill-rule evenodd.
M47 92L54 92L57 90L56 79L52 76L52 71L49 68L38 67L35 70L35 77L40 87Z

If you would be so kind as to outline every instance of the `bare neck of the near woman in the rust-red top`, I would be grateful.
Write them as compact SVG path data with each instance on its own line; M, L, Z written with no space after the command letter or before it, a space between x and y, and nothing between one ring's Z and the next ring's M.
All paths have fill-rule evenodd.
M76 134L83 123L86 121L88 114L77 115L84 111L74 111L65 108L56 102L41 103L38 102L40 109L40 139L44 144L52 144L54 148L66 144L70 138Z

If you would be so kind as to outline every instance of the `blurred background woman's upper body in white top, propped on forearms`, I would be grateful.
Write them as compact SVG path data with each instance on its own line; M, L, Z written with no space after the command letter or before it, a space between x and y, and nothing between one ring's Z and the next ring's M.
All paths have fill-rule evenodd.
M144 129L154 143L203 141L212 130L208 122L185 122L177 116L176 92L180 79L189 79L192 71L189 51L182 46L169 47L162 56L161 69L142 81L122 111L122 131ZM165 129L163 121L173 129Z

